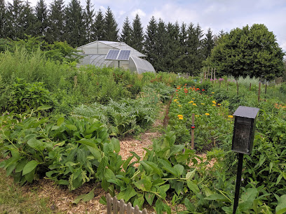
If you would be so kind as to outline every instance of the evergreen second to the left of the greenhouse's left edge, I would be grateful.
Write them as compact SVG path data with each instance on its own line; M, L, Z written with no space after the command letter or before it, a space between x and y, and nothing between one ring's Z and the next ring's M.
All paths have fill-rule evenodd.
M64 1L54 0L50 4L50 14L48 15L48 29L46 41L54 43L55 41L64 41Z

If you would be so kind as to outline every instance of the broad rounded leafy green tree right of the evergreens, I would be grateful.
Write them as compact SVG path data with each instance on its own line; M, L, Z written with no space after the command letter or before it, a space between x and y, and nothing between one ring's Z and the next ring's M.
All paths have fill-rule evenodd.
M284 55L273 32L264 24L253 24L222 36L207 62L221 75L272 80L284 71Z

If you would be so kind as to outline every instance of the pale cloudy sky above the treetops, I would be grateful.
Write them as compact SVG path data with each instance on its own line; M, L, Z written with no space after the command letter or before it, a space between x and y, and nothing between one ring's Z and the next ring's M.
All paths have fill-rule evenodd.
M36 5L36 1L29 0L32 6ZM51 1L45 0L48 5ZM82 6L86 6L86 0L80 1ZM67 4L70 0L64 2ZM265 24L286 52L286 0L91 0L91 3L95 11L101 9L103 13L109 6L120 32L125 17L132 23L136 14L144 28L154 16L165 23L200 24L205 33L210 28L214 34L247 24Z

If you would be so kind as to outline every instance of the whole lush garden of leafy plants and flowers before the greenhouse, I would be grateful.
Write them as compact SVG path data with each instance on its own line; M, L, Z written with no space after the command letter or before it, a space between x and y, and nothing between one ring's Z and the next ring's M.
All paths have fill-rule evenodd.
M232 213L237 168L232 114L238 106L252 106L260 111L254 149L245 155L238 212L284 213L285 85L269 85L258 101L257 80L248 79L251 90L243 80L238 93L227 77L199 83L174 73L76 69L41 51L6 51L0 55L0 166L21 185L49 179L73 191L100 183L112 196L139 208L149 204L157 213L170 213L177 204L186 208L181 213ZM131 152L122 159L119 140L151 127L168 101L162 136L144 158ZM76 203L92 197L93 191Z

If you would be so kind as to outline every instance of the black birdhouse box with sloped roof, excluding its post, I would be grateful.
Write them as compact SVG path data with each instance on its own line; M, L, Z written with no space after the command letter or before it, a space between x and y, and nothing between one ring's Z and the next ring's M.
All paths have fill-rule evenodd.
M234 120L233 141L231 150L248 154L252 152L255 122L259 108L239 106L233 116Z

